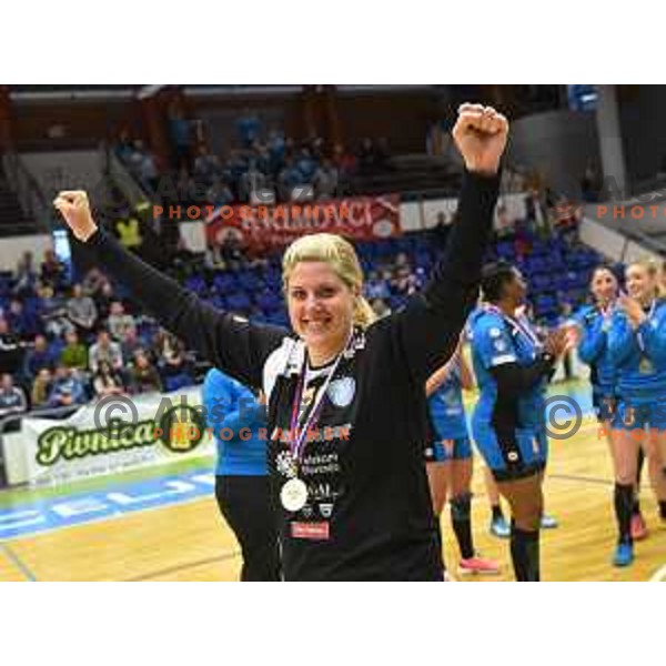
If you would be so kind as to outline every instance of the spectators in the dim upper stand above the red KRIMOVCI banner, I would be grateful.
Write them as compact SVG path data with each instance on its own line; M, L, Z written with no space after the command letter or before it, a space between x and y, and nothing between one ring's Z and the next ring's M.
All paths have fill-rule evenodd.
M211 151L201 123L172 118L172 160L160 164L143 141L121 133L118 157L144 190L171 205L228 205L326 200L350 193L355 174L391 170L385 139L364 139L356 151L326 145L320 137L296 141L278 128L264 129L251 111L236 122L235 147Z

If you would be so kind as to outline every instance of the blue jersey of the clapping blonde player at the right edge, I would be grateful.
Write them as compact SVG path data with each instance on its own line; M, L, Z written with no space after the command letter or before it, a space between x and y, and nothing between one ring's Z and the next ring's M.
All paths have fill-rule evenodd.
M616 310L608 331L618 394L634 404L666 397L666 301L655 301L646 314L646 321L634 331L624 311Z

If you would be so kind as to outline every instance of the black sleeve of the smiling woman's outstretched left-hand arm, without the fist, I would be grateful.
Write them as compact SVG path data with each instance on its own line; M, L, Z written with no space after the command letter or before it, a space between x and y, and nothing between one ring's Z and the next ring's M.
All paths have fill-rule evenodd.
M175 280L128 252L102 230L85 243L77 240L73 243L109 276L129 289L132 297L190 349L243 384L261 387L265 360L289 335L287 331L252 324L208 305Z

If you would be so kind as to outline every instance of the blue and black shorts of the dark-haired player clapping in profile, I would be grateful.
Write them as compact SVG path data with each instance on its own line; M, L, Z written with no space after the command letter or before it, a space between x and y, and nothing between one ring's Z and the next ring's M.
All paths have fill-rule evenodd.
M496 481L525 478L543 472L548 460L545 432L516 431L500 435L495 428L473 427L474 441Z

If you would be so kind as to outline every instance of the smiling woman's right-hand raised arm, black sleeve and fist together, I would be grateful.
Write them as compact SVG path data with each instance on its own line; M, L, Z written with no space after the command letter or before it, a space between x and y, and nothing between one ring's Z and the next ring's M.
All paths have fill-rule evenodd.
M506 119L494 109L461 107L453 130L465 162L457 222L427 286L396 315L407 365L420 385L451 357L476 304L507 134Z

